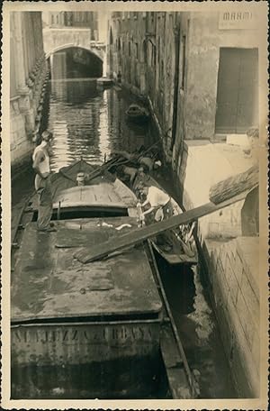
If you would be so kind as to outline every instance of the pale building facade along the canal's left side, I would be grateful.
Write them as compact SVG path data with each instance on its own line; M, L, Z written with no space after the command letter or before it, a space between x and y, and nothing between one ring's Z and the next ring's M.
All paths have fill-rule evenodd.
M33 35L34 33L34 35ZM10 14L10 148L12 170L30 160L40 129L47 74L40 12Z

